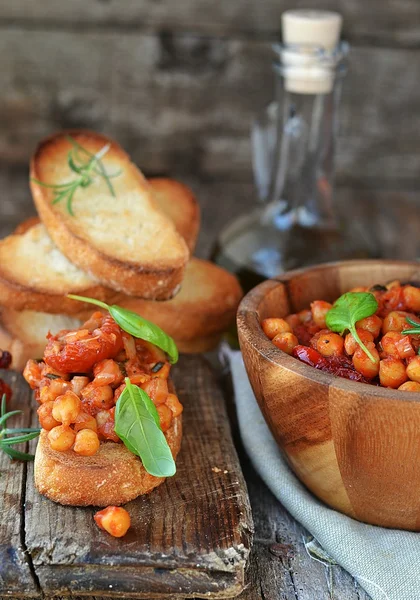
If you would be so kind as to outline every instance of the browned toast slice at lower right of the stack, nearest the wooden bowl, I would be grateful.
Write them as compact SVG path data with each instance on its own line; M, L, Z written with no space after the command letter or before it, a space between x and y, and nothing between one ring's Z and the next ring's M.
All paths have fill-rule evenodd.
M200 340L205 341L205 350L214 347L234 322L242 295L236 277L211 262L192 258L181 291L172 300L151 302L121 296L116 303L159 325L181 351L196 348L202 352Z

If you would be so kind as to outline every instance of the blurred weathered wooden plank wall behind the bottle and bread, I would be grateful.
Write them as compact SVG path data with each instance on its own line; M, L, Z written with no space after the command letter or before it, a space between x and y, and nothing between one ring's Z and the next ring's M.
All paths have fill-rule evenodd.
M249 124L271 98L271 43L290 6L340 10L352 42L338 183L415 189L416 0L2 0L0 168L53 129L115 136L147 173L251 181Z

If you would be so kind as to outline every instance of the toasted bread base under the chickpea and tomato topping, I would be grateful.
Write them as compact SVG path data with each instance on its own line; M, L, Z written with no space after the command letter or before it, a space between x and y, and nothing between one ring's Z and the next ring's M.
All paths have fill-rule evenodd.
M54 502L71 506L120 505L148 494L164 478L147 473L141 460L123 444L103 442L94 456L51 449L48 432L41 431L35 453L35 486ZM181 447L182 417L165 433L176 459Z

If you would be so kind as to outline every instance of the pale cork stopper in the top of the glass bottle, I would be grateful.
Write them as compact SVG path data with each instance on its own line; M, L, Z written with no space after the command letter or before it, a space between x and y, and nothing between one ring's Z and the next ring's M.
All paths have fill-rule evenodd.
M334 85L332 52L337 48L343 19L327 10L287 10L282 15L285 87L300 94L327 94ZM321 57L319 50L324 50ZM328 54L331 59L328 60Z

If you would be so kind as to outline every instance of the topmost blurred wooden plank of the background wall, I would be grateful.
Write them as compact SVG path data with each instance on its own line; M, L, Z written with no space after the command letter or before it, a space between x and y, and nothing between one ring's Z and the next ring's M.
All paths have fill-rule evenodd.
M178 29L215 35L277 36L280 15L289 8L338 10L344 16L345 35L352 41L418 45L420 8L416 0L400 4L372 0L54 0L3 2L3 22L59 28ZM374 26L373 25L374 22Z

